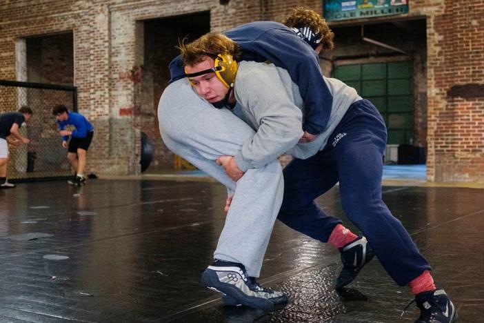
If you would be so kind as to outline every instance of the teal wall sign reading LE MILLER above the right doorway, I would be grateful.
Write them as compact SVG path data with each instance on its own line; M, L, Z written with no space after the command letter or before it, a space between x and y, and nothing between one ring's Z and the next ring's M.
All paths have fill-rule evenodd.
M325 0L324 18L327 21L363 19L408 12L407 0Z

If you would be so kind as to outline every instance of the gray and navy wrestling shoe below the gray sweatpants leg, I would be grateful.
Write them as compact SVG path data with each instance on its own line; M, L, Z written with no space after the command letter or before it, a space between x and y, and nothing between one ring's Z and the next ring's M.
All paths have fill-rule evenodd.
M226 305L245 305L274 311L274 305L288 302L288 295L259 285L248 277L243 264L214 260L201 276L203 286L222 293Z

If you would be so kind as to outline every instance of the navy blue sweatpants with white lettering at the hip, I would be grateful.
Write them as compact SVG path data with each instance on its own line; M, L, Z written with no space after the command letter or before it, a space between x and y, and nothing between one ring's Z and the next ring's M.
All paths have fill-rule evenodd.
M293 159L285 167L278 219L327 242L341 220L325 214L314 199L339 182L347 218L365 235L387 273L404 286L430 265L381 199L386 141L385 123L374 105L354 102L323 150L309 159Z

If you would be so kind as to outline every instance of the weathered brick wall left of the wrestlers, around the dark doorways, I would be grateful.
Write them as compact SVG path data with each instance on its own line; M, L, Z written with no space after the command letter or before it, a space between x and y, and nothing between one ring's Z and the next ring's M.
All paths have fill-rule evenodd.
M143 43L142 32L139 37L139 21L210 11L210 28L225 30L268 17L265 3L229 1L222 6L219 1L208 0L3 2L0 4L0 79L21 77L16 75L15 64L18 39L72 33L73 83L79 90L79 112L96 128L88 155L88 172L139 173L140 130L157 124L152 109L143 110L136 97L140 93L143 65L143 56L139 55ZM276 1L267 6L276 6ZM46 81L56 79L51 76ZM160 141L156 130L152 137Z

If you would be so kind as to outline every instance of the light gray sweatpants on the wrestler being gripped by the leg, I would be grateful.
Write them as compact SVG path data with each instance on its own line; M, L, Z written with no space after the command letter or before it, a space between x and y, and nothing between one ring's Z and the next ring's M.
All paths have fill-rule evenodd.
M186 79L165 89L158 119L161 137L172 152L234 191L214 258L240 262L248 275L259 277L283 199L279 161L248 170L236 183L225 175L216 159L236 155L254 130L229 110L216 109L201 99Z

